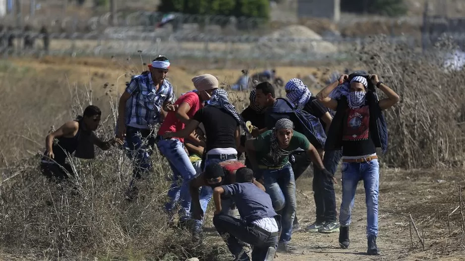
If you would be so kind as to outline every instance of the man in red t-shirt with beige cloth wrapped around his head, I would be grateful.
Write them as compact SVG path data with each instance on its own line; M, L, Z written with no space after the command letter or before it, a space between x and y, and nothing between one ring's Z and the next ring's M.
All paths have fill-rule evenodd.
M199 75L192 78L192 83L197 91L189 91L179 97L174 106L176 111L169 112L165 121L162 123L158 131L157 147L160 153L168 160L171 170L173 171L173 182L168 197L170 202L166 204L166 211L171 213L174 207L174 200L177 192L179 192L179 200L181 205L181 213L179 221L185 222L190 217L190 193L189 181L194 178L196 171L189 160L184 147L183 137L162 138L167 131L182 130L189 120L203 107L202 102L210 98L210 94L214 89L218 88L218 79L211 74ZM193 133L189 135L193 145L204 146L204 142L197 139ZM178 186L178 179L182 179L182 185ZM179 190L180 189L180 190ZM179 190L179 191L178 191Z

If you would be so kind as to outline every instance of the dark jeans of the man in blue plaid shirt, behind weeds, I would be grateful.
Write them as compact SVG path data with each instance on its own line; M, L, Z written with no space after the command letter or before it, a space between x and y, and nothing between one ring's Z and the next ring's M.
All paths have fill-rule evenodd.
M150 157L155 146L155 134L148 129L126 127L125 146L127 157L133 160L132 176L140 179L142 174L152 171Z

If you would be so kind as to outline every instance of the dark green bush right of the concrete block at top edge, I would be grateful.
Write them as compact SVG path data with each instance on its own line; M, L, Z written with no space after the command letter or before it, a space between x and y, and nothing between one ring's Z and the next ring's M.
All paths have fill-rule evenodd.
M407 13L404 0L341 0L341 11L399 16Z

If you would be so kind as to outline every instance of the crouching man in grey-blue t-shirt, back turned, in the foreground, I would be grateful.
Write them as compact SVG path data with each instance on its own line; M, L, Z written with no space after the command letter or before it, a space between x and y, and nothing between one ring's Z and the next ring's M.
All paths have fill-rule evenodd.
M249 261L239 243L252 246L252 261L269 261L275 257L279 240L280 216L276 214L270 196L254 185L253 171L240 168L236 171L236 183L216 187L213 190L215 216L213 225L225 240L234 260ZM221 196L231 196L240 217L223 215Z

